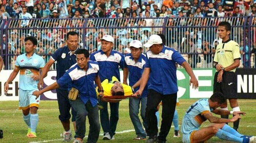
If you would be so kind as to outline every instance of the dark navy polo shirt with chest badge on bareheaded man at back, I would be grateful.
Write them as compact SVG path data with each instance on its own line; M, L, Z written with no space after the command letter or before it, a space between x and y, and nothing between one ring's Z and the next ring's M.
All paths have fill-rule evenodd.
M57 61L57 80L65 74L66 70L68 70L72 65L76 64L76 54L71 54L71 51L69 48L67 48L67 46L58 48L54 54L52 54L51 59ZM67 86L62 86L59 89L67 90Z

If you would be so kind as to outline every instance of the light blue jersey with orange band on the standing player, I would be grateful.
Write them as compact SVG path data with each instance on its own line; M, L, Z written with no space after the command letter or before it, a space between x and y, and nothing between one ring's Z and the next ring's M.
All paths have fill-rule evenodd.
M33 80L30 76L39 75L39 70L44 65L44 59L36 53L30 58L26 56L26 53L19 55L15 61L15 66L20 69L19 89L24 91L37 89L38 81Z

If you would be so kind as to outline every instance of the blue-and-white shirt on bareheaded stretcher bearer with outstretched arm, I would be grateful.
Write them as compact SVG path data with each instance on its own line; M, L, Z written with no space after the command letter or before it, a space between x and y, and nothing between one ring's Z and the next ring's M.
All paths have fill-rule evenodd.
M97 105L98 99L94 88L95 77L99 74L99 65L96 61L88 61L88 69L84 71L77 64L72 66L66 73L57 80L60 87L69 85L79 91L79 97L84 104L88 100L91 101L92 106Z

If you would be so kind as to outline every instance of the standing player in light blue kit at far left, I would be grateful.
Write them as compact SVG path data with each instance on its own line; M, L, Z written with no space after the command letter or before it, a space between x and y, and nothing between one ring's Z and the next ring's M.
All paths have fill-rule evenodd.
M37 83L40 79L40 69L44 67L44 59L34 53L37 46L37 39L29 36L25 38L25 51L17 57L15 67L10 77L4 84L4 92L7 93L9 83L19 74L19 109L22 109L23 119L28 125L27 136L36 138L36 127L38 124L37 109L39 108L40 97L36 99L32 95L37 90Z

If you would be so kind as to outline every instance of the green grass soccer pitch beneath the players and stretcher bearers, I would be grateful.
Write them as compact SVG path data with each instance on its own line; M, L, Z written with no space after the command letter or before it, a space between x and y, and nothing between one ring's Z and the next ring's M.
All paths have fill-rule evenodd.
M176 107L179 113L179 125L182 123L182 117L186 112L186 109L196 100L180 99L180 105ZM241 111L247 113L242 117L239 124L239 132L246 135L256 135L256 100L239 100ZM229 108L230 109L230 108ZM57 101L40 101L39 124L37 126L37 138L27 138L27 127L22 118L22 112L18 110L18 101L0 101L0 128L3 129L4 138L0 139L1 143L61 143L62 138L60 133L63 131L61 122L58 115ZM110 113L110 111L109 111ZM160 107L161 115L161 107ZM230 115L231 117L231 115ZM160 117L161 121L161 117ZM161 124L161 123L160 123ZM209 121L202 124L202 127L209 125ZM230 123L233 126L233 123ZM88 119L86 121L86 136L88 135L89 124ZM111 142L111 143L133 143L133 142L145 142L134 141L136 137L134 127L129 117L128 100L120 102L119 107L119 121L117 124L117 131L115 140L103 141L103 131L100 130L99 143ZM74 136L72 125L72 136ZM182 134L181 134L182 136ZM74 139L72 139L73 142ZM86 142L87 138L84 138ZM173 138L173 126L167 137L168 143L182 143L182 137ZM224 140L213 137L208 143L215 142L227 142Z

